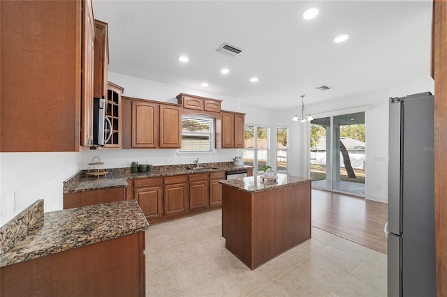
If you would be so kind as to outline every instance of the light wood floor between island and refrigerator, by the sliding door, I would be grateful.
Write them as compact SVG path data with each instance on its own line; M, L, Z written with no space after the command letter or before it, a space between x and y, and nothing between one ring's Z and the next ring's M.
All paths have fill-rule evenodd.
M388 204L312 189L312 225L386 253Z

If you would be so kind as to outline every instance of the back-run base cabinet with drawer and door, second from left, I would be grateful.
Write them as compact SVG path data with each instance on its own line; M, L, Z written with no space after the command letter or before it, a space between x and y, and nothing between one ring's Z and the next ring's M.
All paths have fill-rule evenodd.
M188 211L188 176L166 176L163 195L164 215Z

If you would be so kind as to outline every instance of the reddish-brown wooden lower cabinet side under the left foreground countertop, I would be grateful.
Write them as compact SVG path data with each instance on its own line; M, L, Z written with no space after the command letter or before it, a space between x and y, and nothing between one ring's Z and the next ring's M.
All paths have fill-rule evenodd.
M145 296L145 232L0 268L0 296Z

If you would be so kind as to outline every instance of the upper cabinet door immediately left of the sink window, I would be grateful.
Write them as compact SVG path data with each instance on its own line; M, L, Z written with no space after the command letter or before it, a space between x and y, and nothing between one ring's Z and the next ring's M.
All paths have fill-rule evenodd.
M160 105L160 147L182 147L182 116L179 107Z

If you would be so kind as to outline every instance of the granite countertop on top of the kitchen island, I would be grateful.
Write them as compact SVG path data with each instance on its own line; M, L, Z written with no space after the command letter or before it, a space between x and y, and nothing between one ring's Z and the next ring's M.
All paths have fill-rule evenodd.
M308 183L310 178L291 176L288 174L277 174L276 181L263 181L261 176L249 176L244 178L228 179L225 181L219 181L222 185L226 185L230 188L240 190L242 192L256 193L267 190L273 190L276 188L288 187L296 185L298 183Z

